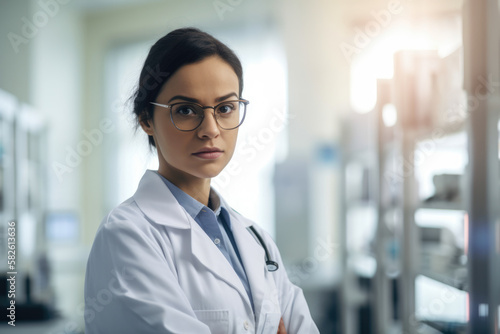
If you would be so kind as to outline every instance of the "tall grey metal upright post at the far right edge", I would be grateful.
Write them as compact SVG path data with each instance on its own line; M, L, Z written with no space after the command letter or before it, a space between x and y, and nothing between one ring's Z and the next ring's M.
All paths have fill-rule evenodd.
M464 4L464 87L471 102L468 131L471 196L469 210L469 333L498 333L499 247L499 14L498 2ZM496 80L484 84L484 80ZM489 87L488 87L489 86Z

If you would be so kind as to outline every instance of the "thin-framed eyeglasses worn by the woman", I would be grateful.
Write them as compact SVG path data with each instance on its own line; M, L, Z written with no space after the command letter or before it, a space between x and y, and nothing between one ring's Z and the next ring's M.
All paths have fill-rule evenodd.
M172 104L160 104L149 102L155 106L170 109L170 119L174 126L180 131L196 130L205 118L204 109L213 109L217 124L224 130L233 130L243 123L245 119L247 104L244 99L224 101L215 106L202 106L194 102L178 102Z

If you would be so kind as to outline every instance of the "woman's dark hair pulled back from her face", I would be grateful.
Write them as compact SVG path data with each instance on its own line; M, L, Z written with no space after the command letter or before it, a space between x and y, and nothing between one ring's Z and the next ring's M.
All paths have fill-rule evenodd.
M238 76L239 95L243 91L243 70L236 54L224 43L196 28L181 28L160 38L149 50L139 84L131 99L137 126L153 118L158 93L168 79L182 66L199 62L210 56L219 56ZM152 136L149 144L155 146Z

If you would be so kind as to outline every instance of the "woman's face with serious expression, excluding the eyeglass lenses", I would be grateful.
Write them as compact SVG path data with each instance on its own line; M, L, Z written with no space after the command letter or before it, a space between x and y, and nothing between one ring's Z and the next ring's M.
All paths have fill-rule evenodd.
M239 98L238 77L232 67L218 56L205 58L181 67L162 87L156 103L197 102L215 106ZM178 130L170 119L170 109L155 106L153 122L142 124L153 136L158 150L158 171L170 181L208 179L218 175L234 152L238 129L221 129L213 109L205 110L202 124L194 131ZM216 148L219 153L202 154L200 150Z

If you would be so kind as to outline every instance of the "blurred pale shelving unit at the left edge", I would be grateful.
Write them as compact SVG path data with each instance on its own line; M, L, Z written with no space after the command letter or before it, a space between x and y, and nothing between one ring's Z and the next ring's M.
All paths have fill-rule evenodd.
M54 294L45 256L47 127L35 109L0 90L0 276L15 272L16 320L54 315ZM7 226L15 222L15 264L7 263ZM12 256L12 253L10 254ZM7 290L0 305L7 307Z

